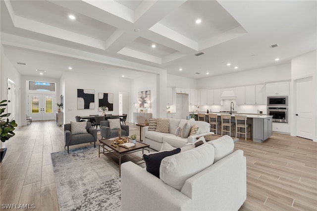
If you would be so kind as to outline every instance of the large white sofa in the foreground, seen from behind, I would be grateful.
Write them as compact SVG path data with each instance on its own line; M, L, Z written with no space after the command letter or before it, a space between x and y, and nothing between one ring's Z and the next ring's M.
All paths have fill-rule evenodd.
M232 146L232 138L224 136L165 157L160 178L131 161L123 163L122 211L239 210L247 197L246 158L241 150L232 152Z

